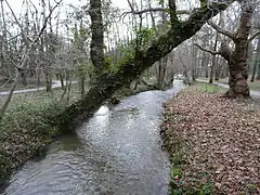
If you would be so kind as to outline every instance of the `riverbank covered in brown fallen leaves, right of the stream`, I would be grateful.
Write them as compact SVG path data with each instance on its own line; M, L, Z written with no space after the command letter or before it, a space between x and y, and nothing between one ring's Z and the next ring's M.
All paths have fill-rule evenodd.
M171 194L259 194L260 101L195 84L165 104Z

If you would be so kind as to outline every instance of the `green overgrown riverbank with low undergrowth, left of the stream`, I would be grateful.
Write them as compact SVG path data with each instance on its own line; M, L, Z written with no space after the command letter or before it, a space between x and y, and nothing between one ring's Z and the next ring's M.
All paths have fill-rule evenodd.
M146 89L150 90L150 89ZM145 91L121 89L116 92L117 99ZM69 100L62 90L54 93L35 92L14 95L0 125L0 192L12 172L15 172L28 159L44 154L48 144L64 133L58 125L66 115L68 105L80 100L80 93L72 89Z

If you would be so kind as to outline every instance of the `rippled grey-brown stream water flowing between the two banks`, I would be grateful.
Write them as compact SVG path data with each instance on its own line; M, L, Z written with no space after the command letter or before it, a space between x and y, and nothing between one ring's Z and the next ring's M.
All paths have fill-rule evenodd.
M28 161L12 177L8 195L168 194L169 159L161 151L161 103L173 89L127 98L102 106L75 135L50 145L42 159Z

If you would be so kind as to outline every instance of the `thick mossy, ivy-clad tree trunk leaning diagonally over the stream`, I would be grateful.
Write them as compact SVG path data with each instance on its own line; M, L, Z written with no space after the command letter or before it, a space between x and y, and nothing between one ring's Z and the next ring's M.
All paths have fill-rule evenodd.
M101 0L92 1L101 2ZM61 122L58 123L60 127L66 129L77 125L78 119L81 120L91 116L116 90L130 84L146 68L166 56L183 41L194 36L210 17L226 8L226 3L213 3L210 6L198 9L185 22L173 22L170 30L154 40L145 51L135 51L134 57L126 58L116 73L104 72L99 75L84 98L68 106L55 121ZM94 34L94 31L92 32ZM91 49L94 48L92 47ZM93 57L93 65L96 62L93 60L99 61L96 57Z

